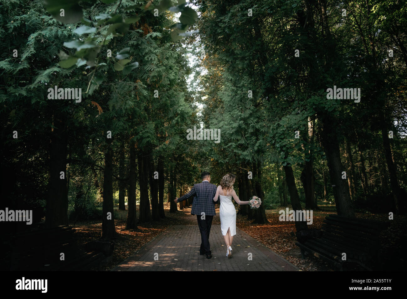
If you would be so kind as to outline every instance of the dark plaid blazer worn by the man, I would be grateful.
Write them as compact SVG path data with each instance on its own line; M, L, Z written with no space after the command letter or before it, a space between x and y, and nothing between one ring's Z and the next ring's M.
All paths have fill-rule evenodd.
M204 212L205 215L214 216L216 213L213 198L216 194L216 188L216 185L211 184L208 181L203 181L202 183L195 184L191 191L181 196L177 202L184 201L191 196L195 196L192 203L191 214L201 215L201 213Z

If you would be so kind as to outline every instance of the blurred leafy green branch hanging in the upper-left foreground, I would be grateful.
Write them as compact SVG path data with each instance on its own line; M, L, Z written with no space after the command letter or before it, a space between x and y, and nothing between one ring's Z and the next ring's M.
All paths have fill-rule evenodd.
M90 0L88 2L96 2L96 0ZM91 17L93 20L89 20L83 16L83 9L79 5L79 0L46 0L46 10L58 21L69 24L81 22L82 25L77 27L73 32L79 35L78 39L64 42L63 46L75 51L73 54L68 54L60 50L59 65L61 68L79 68L82 65L87 65L85 68L92 68L94 70L88 73L92 75L89 79L88 88L86 93L97 89L103 82L102 76L95 76L98 67L101 65L107 65L109 58L112 57L112 50L107 49L106 55L101 55L103 46L107 46L114 37L123 37L130 29L130 24L138 22L142 17L147 14L153 13L154 16L159 16L166 10L175 13L181 13L177 24L171 26L173 29L171 37L174 41L181 39L184 36L197 33L186 33L186 30L192 25L198 18L197 13L190 7L186 6L185 0L178 0L177 6L172 5L171 0L162 0L157 5L153 5L153 0L147 2L147 4L137 3L131 6L123 8L123 14L116 13L119 7L122 5L122 0L102 0L105 4L111 4L114 9L113 13L101 13L95 17ZM118 2L117 5L114 2ZM112 11L110 9L109 11ZM125 13L127 12L127 13ZM130 15L129 15L129 12ZM114 69L116 71L123 72L123 75L129 74L133 69L137 68L138 61L132 62L132 57L129 55L130 48L123 48L116 52ZM104 57L104 59L102 58ZM90 88L92 86L92 88Z

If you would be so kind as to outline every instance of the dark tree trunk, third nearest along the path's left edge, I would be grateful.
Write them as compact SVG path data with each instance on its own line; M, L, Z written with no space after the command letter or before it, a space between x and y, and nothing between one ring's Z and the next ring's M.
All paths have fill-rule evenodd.
M140 186L140 208L139 223L146 223L151 220L149 187L148 187L148 167L149 158L147 153L140 153L138 156L138 177Z

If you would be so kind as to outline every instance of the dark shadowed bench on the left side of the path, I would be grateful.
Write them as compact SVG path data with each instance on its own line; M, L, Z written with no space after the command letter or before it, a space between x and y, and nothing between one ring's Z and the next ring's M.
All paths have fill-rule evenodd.
M111 259L113 244L92 241L79 249L69 226L41 229L10 236L9 254L2 268L11 271L79 271L102 269ZM63 260L61 260L63 253Z

